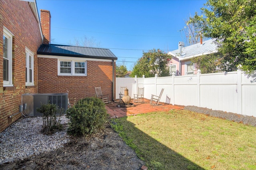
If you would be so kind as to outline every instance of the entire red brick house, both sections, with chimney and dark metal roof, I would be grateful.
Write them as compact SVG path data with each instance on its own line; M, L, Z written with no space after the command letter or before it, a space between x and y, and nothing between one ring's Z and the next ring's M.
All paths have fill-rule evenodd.
M50 18L41 10L40 24L36 0L0 0L0 132L21 116L27 93L68 93L74 103L100 86L110 100L116 96L117 57L109 49L50 44Z

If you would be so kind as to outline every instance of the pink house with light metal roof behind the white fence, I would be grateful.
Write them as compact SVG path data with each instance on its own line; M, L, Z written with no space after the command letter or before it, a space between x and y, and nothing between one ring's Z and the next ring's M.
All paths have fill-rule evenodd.
M184 47L183 42L179 42L178 49L168 52L169 55L172 55L170 71L177 73L176 75L196 74L197 70L194 69L194 65L190 59L216 52L218 52L217 45L212 39L204 42L201 40L200 43L187 47Z

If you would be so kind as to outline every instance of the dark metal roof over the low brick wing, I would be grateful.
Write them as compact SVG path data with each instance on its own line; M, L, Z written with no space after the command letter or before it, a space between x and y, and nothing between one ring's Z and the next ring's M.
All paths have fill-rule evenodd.
M38 48L37 54L117 60L117 57L110 49L72 45L42 44Z

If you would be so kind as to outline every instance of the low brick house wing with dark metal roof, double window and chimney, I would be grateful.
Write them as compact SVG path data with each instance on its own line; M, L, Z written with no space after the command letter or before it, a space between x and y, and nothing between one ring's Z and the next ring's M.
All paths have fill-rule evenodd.
M38 49L38 93L68 93L70 103L95 96L94 87L113 100L117 57L104 48L50 43L50 12L41 10L44 44Z

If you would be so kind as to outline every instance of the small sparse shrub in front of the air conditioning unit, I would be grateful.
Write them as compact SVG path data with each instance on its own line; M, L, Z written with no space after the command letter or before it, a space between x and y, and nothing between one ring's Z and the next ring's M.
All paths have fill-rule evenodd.
M43 114L43 133L51 133L55 130L61 130L62 125L60 124L60 116L63 115L63 109L58 108L55 104L42 104L36 111ZM57 116L58 115L58 116Z

